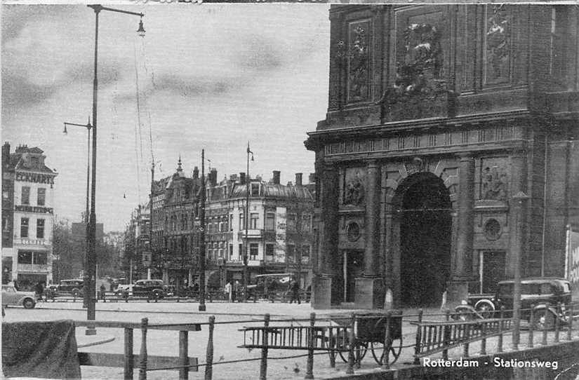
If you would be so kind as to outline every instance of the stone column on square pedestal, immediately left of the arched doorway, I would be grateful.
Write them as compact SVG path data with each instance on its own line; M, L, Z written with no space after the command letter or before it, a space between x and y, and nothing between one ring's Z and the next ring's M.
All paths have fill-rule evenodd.
M380 254L380 167L368 163L366 172L366 238L364 247L364 275L356 278L355 302L359 308L382 308L384 283L379 277Z

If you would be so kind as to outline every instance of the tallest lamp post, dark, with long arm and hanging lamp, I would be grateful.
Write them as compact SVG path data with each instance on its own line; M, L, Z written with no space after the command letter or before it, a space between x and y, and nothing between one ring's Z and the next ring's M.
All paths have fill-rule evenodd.
M145 29L142 27L142 18L144 14L121 11L120 9L107 8L100 4L88 5L95 11L95 76L93 79L93 170L91 177L91 216L88 219L88 255L86 259L86 274L88 275L85 288L88 287L88 308L86 310L86 319L95 320L95 282L96 282L96 145L97 145L97 103L98 103L98 15L100 11L111 11L116 13L125 13L140 17L139 28L137 33L145 36ZM95 335L94 325L89 325L86 329L86 335Z

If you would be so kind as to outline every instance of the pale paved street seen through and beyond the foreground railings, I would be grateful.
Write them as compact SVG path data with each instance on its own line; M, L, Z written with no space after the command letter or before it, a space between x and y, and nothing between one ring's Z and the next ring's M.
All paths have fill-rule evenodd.
M86 319L86 310L81 308L81 302L47 302L39 303L32 310L22 308L8 308L6 311L7 322L15 320L57 320L70 318L73 320ZM214 361L215 363L229 360L240 360L248 358L260 358L260 350L249 351L244 348L237 348L243 343L243 333L238 329L242 326L262 325L263 313L272 314L272 323L274 320L295 319L293 325L307 325L308 322L303 320L309 318L312 308L310 304L286 304L267 302L258 302L256 304L228 304L228 303L211 303L206 304L207 311L199 313L199 304L187 303L150 303L147 302L107 302L97 304L97 320L114 320L125 322L138 322L140 318L149 318L149 323L206 323L209 315L215 315L215 334L214 334ZM316 311L318 318L324 315L349 314L353 310L326 310ZM412 311L405 311L411 313ZM431 311L434 313L434 310ZM239 323L231 323L236 322ZM252 322L255 321L255 322ZM229 322L229 324L220 325L219 323ZM280 324L278 322L278 324ZM77 327L77 337L79 340L84 339L84 327ZM403 334L406 339L404 344L412 344L414 328L408 323L404 323ZM98 329L99 337L114 337L115 340L102 346L83 348L84 351L92 352L123 352L123 332L121 329ZM135 331L134 348L135 353L140 349L140 332ZM201 332L189 333L189 355L199 358L199 362L205 362L206 346L208 332L207 327L203 326ZM178 333L177 332L160 332L149 330L147 335L147 351L149 355L178 355ZM268 374L271 379L303 379L306 367L306 358L291 358L284 360L274 360L284 356L300 355L301 351L284 351L270 350L268 360ZM412 351L406 349L400 358L400 362L411 361ZM362 362L359 370L375 370L378 365L371 358L370 353ZM260 362L242 362L237 364L215 364L213 367L213 379L256 379L259 374ZM103 368L103 367L82 367L83 376L86 379L119 379L122 376L121 368ZM192 373L192 379L203 378L204 367L200 367L199 373ZM345 364L337 358L336 367L329 367L328 355L317 355L314 358L314 375L316 377L331 377L333 374L344 374ZM135 379L138 370L135 370ZM149 372L149 379L168 379L174 378L176 372Z

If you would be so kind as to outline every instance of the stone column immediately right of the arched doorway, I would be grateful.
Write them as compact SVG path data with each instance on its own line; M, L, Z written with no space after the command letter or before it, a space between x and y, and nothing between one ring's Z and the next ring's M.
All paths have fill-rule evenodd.
M448 283L448 306L458 304L468 295L474 235L474 157L462 154L458 172L458 226L453 272Z

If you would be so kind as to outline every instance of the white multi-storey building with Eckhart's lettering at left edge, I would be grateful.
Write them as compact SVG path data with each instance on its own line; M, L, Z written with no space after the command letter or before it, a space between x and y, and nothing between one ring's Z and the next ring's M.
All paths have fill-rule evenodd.
M26 145L2 147L2 281L21 287L53 280L53 202L57 173L44 151Z

